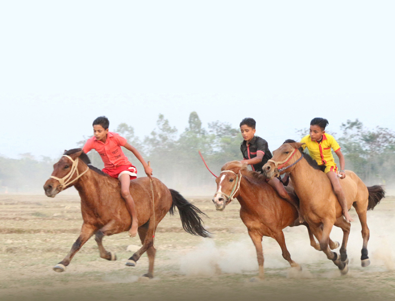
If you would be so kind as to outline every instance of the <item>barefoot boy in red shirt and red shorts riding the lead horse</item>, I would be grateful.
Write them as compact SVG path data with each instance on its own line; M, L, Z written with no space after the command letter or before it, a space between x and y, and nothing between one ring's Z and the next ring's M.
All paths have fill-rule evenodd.
M136 156L141 164L143 164L144 171L150 178L152 176L152 168L144 161L141 154L126 142L125 138L119 136L117 133L109 132L108 127L110 121L106 116L97 117L92 125L94 136L85 143L82 150L85 153L92 149L96 150L104 163L103 172L119 180L122 197L125 199L126 208L132 217L129 236L134 237L137 234L138 220L129 188L130 180L137 178L137 169L129 162L129 159L120 147L124 147Z

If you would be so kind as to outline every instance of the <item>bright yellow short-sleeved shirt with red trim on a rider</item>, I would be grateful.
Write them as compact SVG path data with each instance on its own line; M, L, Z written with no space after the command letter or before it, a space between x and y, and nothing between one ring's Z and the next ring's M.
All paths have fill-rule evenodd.
M307 135L300 142L306 143L302 145L302 148L309 150L311 157L317 161L318 165L328 165L328 163L332 165L335 163L330 149L332 148L336 152L340 150L340 146L332 135L323 134L320 143L312 141L310 135Z

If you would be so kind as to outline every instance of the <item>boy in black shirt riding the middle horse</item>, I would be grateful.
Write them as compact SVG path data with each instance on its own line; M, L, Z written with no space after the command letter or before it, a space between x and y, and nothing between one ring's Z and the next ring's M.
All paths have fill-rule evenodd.
M255 136L255 124L256 122L253 118L244 118L240 122L240 131L244 139L240 146L240 151L243 154L244 160L240 162L242 164L251 165L252 170L261 173L262 166L272 158L272 153L269 151L267 141L261 137ZM280 197L294 205L299 213L299 207L297 206L298 201L293 195L285 190L278 178L269 180L268 184L276 189Z

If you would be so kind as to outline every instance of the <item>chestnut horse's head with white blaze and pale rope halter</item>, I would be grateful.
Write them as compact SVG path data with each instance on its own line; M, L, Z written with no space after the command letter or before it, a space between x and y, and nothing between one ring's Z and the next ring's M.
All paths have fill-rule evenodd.
M224 210L226 205L239 194L241 171L244 169L246 169L246 165L239 161L231 161L222 166L221 173L215 180L217 191L213 197L213 203L217 210Z

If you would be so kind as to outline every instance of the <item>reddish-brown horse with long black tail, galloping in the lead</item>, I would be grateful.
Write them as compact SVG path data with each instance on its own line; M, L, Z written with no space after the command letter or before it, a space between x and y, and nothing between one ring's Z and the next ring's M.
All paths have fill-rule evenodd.
M131 217L121 196L119 181L88 165L89 163L88 156L81 149L65 151L59 162L54 164L52 176L44 185L45 194L50 197L55 197L57 193L71 186L78 190L81 197L81 232L69 254L54 266L53 269L57 272L66 269L77 251L93 234L100 257L117 260L115 253L107 252L103 247L103 236L128 231L131 226ZM149 269L143 277L148 278L154 276L155 229L167 212L174 214L174 208L177 207L182 226L188 233L209 236L199 217L199 214L204 214L197 207L190 204L177 191L168 189L158 179L153 178L152 184L154 203L148 177L130 181L130 193L136 204L138 233L143 246L126 262L126 265L135 266L141 255L147 251Z

